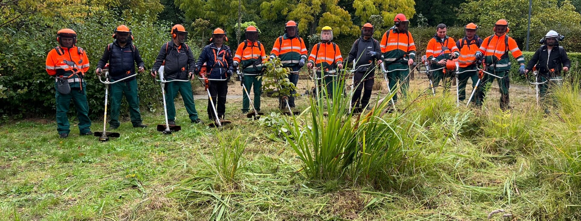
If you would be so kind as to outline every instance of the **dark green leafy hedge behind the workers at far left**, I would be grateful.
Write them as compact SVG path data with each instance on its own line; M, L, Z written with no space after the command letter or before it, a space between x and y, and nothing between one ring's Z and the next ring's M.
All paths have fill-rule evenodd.
M69 27L76 30L77 45L84 48L89 56L91 67L86 73L85 81L88 84L86 90L92 116L102 115L103 112L105 89L94 72L106 45L113 42L111 35L115 27L119 24L131 27L135 35L134 44L139 48L146 70L152 67L161 45L171 40L169 30L172 24L154 23L148 15L114 17L99 14L78 24L58 22L53 26L37 26L34 23L34 20L30 20L24 25L36 27L33 30L10 27L0 29L2 114L22 117L54 115L55 80L46 74L45 60L46 54L58 45L55 35L60 28ZM192 47L192 51L195 55L200 53L198 47ZM161 104L159 84L154 83L149 73L140 74L137 79L142 110L151 110ZM126 102L124 103L123 108L126 108ZM74 112L74 108L71 110Z

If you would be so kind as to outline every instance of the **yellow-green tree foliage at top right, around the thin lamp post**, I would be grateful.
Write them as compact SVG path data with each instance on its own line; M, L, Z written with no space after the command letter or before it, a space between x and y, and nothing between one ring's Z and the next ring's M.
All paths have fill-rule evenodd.
M528 23L528 0L478 0L463 3L459 19L465 23L474 22L492 30L498 19L506 19L510 28L509 35L522 41L526 39ZM530 19L531 33L546 33L566 27L579 26L581 15L569 0L533 0ZM535 40L536 41L536 40Z

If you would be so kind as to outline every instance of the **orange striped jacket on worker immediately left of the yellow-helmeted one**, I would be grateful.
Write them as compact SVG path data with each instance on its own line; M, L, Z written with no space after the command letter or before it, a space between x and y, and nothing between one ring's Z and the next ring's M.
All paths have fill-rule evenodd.
M300 59L307 60L307 47L304 45L303 38L286 37L286 34L274 40L270 57L278 56L281 59L283 67L295 66Z

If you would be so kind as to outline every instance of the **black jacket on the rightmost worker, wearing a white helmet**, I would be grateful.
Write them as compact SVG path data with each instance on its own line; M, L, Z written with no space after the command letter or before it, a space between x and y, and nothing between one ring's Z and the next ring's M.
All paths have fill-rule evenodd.
M571 60L569 60L565 48L555 45L549 55L547 45L542 45L537 49L533 58L529 60L529 63L526 65L526 70L531 71L535 65L537 65L539 74L545 77L556 77L561 76L561 69L563 67L571 68ZM551 69L555 70L549 74L549 70Z

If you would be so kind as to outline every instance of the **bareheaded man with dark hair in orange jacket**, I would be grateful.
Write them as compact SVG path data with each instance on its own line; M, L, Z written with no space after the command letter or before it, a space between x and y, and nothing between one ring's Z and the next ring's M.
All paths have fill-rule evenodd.
M460 51L458 51L455 44L456 41L454 41L454 38L446 35L446 31L446 24L438 24L436 26L436 34L434 34L432 39L428 41L428 47L426 48L426 56L428 62L431 63L430 69L435 70L433 72L428 72L428 76L433 80L433 87L437 87L440 84L440 80L445 77L454 77L453 72L446 72L446 76L444 76L444 69L446 68L441 68L446 66L448 60L456 59L458 58L458 55L460 55ZM450 85L444 83L444 87L450 88ZM436 88L433 89L436 90Z

